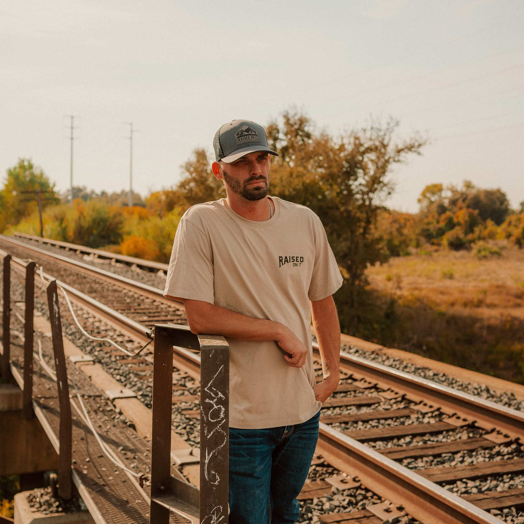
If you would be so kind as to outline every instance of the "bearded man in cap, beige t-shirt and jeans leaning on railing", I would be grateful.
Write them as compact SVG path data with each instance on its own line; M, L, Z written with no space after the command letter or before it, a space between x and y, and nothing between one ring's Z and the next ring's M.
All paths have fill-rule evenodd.
M339 383L342 283L311 210L269 197L262 126L224 124L213 174L227 198L192 206L174 239L165 296L183 300L189 327L230 344L230 524L299 516L322 402ZM324 379L315 383L310 322Z

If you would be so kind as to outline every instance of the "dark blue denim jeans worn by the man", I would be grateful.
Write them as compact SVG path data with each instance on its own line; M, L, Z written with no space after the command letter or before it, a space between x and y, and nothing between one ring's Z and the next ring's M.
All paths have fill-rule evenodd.
M230 524L292 524L309 473L320 411L301 424L230 428Z

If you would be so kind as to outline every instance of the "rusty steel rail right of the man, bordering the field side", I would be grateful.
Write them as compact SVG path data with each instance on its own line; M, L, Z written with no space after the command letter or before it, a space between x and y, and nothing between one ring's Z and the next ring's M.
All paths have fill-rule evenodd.
M318 345L314 347L318 351ZM496 424L497 429L513 439L524 440L524 413L520 411L346 352L340 356L341 368L346 371L372 375L381 386L402 389L412 397L435 403L447 414L456 413L487 430Z

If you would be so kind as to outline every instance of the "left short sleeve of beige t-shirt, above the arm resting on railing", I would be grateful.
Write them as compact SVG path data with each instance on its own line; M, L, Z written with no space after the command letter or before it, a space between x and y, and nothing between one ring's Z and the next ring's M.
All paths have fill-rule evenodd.
M214 303L213 256L209 238L184 217L174 236L163 294Z

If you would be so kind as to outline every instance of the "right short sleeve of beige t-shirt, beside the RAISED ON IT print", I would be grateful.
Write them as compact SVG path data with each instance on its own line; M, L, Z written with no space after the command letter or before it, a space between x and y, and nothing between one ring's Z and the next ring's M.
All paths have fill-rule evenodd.
M315 236L315 265L308 290L310 300L322 300L342 286L342 275L328 242L324 226L315 215L313 225Z

